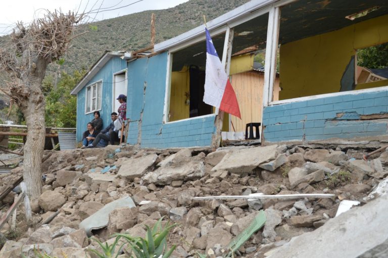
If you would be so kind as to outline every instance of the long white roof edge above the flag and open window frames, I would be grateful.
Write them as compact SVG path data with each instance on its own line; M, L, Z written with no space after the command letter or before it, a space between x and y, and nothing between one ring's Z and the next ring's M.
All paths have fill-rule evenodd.
M251 2L248 2L242 6L239 6L233 9L232 11L227 12L226 14L223 14L207 22L207 28L211 32L211 30L217 29L232 21L240 20L252 12L257 11L258 9L265 8L278 1L279 0L252 0ZM160 51L168 50L172 47L184 45L187 41L190 41L191 39L201 35L205 38L204 28L205 28L205 25L202 24L178 36L175 36L173 38L170 38L158 44L155 44L154 51L160 52Z

